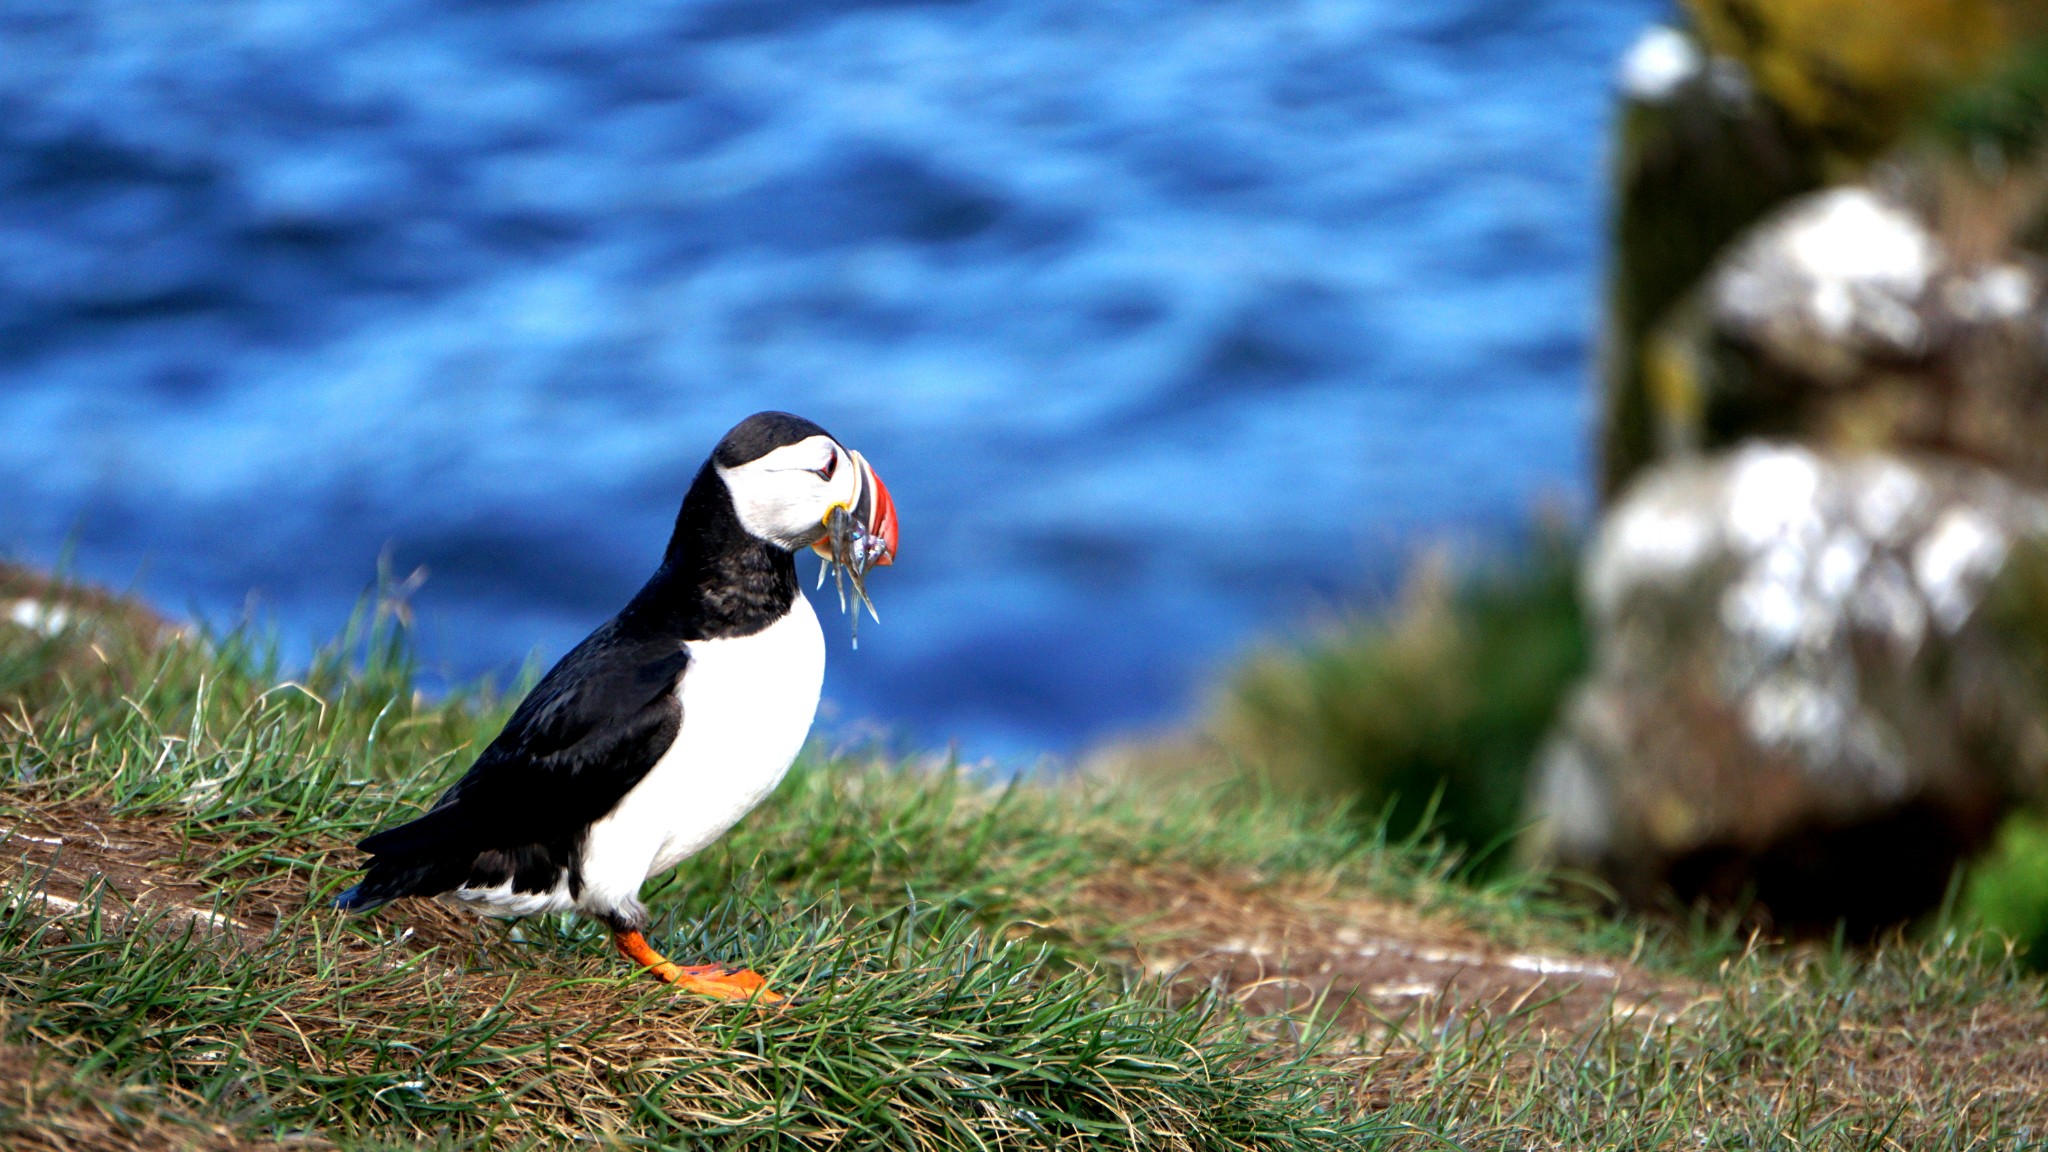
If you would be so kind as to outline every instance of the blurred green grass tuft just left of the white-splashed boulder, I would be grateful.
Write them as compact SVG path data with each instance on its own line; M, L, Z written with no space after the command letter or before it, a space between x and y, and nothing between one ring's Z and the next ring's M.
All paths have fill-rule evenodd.
M1497 865L1528 767L1587 664L1577 547L1540 531L1513 560L1425 566L1386 615L1337 621L1245 660L1214 744L1282 789L1356 797L1397 836L1434 828Z

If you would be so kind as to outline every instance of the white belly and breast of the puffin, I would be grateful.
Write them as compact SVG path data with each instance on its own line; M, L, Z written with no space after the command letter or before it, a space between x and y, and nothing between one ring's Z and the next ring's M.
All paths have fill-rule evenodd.
M635 906L647 877L696 855L766 799L811 732L823 681L825 633L803 592L754 635L690 642L682 732L590 826L578 904Z

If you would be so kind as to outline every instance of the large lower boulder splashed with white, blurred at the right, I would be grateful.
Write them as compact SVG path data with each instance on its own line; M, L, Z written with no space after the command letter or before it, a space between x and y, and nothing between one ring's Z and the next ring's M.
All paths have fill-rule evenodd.
M2048 781L2040 697L1978 611L2040 541L2048 498L1931 457L1757 443L1649 474L1587 553L1595 670L1532 847L1788 924L1927 908Z

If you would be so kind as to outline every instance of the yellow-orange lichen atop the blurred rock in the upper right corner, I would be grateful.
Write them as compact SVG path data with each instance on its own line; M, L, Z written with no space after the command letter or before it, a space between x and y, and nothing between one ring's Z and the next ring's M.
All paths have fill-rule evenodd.
M1845 158L2048 27L2036 0L1686 0L1706 43Z

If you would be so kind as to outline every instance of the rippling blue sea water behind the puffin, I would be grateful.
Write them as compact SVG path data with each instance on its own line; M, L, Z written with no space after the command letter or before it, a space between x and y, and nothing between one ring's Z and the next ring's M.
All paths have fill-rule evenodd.
M758 408L903 517L827 695L969 754L1587 474L1653 0L0 0L0 549L559 656Z

